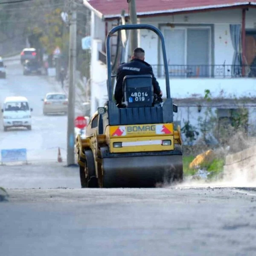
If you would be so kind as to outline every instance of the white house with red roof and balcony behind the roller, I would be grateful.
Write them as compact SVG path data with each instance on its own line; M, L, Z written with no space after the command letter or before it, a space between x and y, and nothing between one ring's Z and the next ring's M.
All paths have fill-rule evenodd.
M84 5L92 11L91 79L95 100L91 111L94 112L105 102L107 94L103 64L106 35L121 22L122 10L129 22L129 10L127 0L84 0ZM164 35L172 97L204 96L205 89L211 91L212 97L220 93L228 98L256 97L256 0L137 0L136 7L137 22L154 25ZM117 37L113 37L113 62L116 41ZM140 30L138 42L145 49L145 61L152 65L165 95L157 35ZM129 52L129 49L122 51L122 57L125 56L122 61L129 59Z

